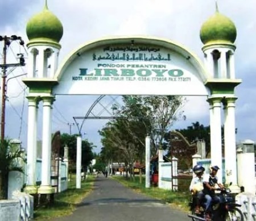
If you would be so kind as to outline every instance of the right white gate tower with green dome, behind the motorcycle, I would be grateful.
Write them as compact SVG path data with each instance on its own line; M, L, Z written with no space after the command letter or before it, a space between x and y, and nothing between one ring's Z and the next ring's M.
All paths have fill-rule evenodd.
M241 83L236 79L234 69L234 41L236 26L225 15L216 12L201 27L200 38L205 58L205 66L210 73L206 86L210 90L210 156L212 165L221 169L218 178L222 182L232 182L237 186L236 165L236 126L235 126L235 87ZM224 122L221 122L221 107L224 109ZM224 144L221 126L224 124ZM225 146L225 167L222 165L222 145Z

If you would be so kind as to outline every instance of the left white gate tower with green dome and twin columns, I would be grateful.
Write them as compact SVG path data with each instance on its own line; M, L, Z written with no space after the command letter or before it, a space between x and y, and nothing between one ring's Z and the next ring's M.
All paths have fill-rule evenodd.
M63 36L60 20L48 10L47 0L43 11L34 15L27 23L28 74L23 79L29 87L28 133L27 133L27 184L30 194L52 193L51 187L51 109L54 97L52 87L57 84L54 74L57 69L59 41ZM42 182L36 190L36 137L38 128L38 103L43 102L42 125ZM41 126L41 125L40 125ZM38 172L37 172L38 173Z

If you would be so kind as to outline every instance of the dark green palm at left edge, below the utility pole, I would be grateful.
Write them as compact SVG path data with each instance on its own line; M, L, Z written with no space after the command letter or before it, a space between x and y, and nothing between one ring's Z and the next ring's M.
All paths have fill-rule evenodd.
M0 199L8 197L9 172L24 172L19 165L20 160L26 161L23 157L23 151L16 149L10 150L10 140L0 141Z

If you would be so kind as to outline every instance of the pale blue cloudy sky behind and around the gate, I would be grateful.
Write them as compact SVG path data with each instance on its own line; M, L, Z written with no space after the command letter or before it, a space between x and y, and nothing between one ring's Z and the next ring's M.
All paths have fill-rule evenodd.
M22 36L28 43L26 24L32 15L42 11L44 0L0 1L0 35ZM189 48L203 59L200 40L201 25L214 14L214 0L48 0L48 8L63 24L64 34L59 64L73 49L86 41L115 35L149 35L164 37ZM256 141L256 2L254 0L220 0L219 11L233 20L237 27L236 78L242 84L236 89L237 141ZM2 57L2 42L0 56ZM7 62L15 62L16 53L24 53L13 42L7 51ZM26 66L8 70L5 135L27 143L27 89L22 77ZM14 78L13 78L14 77ZM58 96L53 105L52 132L77 133L73 116L84 116L98 96ZM105 97L93 110L103 114L102 106L108 106L112 97ZM120 99L120 98L116 98ZM186 128L193 122L209 125L209 106L206 97L188 97L184 107L187 119L175 122L173 129ZM39 106L40 109L40 106ZM42 111L39 111L39 118ZM40 122L40 120L39 120ZM106 120L86 120L82 128L83 138L91 141L94 152L101 148L98 130ZM42 135L38 133L38 139Z

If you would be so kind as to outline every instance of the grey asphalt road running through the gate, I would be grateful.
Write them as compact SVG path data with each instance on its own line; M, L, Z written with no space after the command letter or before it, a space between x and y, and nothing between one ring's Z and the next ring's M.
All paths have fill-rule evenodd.
M94 190L72 215L51 221L187 221L187 214L99 176Z

